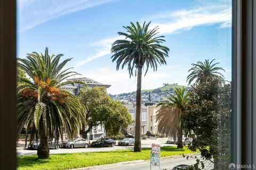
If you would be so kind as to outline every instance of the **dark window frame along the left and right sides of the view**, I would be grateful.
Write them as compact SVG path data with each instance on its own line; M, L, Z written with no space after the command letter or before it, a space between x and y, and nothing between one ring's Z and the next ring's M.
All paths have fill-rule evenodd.
M233 0L231 162L256 164L255 22L256 3ZM0 0L0 169L16 169L16 1ZM245 45L242 45L242 44ZM243 56L243 58L242 58ZM250 67L247 67L250 66ZM243 114L242 114L243 110ZM8 112L9 114L5 114ZM9 121L12 120L12 121ZM254 122L254 124L253 124ZM9 129L9 131L5 131ZM242 135L243 134L243 135ZM243 140L241 140L243 139Z

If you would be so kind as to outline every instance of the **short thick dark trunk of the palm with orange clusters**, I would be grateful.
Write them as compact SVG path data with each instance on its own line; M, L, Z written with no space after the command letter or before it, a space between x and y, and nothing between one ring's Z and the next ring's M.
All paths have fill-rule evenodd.
M45 133L44 125L41 127L40 144L37 148L37 156L39 159L49 158L48 139Z

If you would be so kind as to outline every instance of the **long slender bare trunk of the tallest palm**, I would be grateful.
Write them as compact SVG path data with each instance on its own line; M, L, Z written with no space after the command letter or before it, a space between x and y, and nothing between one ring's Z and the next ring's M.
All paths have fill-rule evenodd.
M142 75L142 67L138 67L134 152L141 152L141 123L140 123L140 112L141 112L141 75Z

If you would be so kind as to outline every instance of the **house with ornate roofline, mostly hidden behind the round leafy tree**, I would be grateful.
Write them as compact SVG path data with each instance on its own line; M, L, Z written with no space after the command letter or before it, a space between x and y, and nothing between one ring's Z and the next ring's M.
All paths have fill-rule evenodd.
M111 85L107 85L107 84L102 84L99 82L96 82L95 80L92 80L90 78L87 77L82 77L82 78L72 78L72 79L67 79L70 81L74 81L74 82L83 82L84 84L86 84L88 87L93 88L93 87L105 87L105 88L109 88ZM79 83L75 83L74 86L71 84L62 86L62 89L65 89L67 91L69 91L70 93L74 94L74 95L78 95L81 88L84 88L85 85L83 84L79 84ZM94 140L94 139L98 139L100 137L104 137L106 135L105 133L105 129L103 125L99 125L99 126L94 126L91 131L89 133L87 133L87 139L89 140ZM79 129L78 129L78 137L79 137Z

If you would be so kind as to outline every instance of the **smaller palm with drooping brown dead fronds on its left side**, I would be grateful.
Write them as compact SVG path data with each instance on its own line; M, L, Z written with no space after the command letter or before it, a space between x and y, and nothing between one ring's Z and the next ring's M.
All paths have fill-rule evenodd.
M186 88L174 88L175 95L167 93L166 100L157 103L157 107L160 107L156 114L156 120L158 121L158 131L163 134L171 134L176 136L178 132L178 146L177 148L183 148L182 145L182 132L183 132L183 120L182 115L185 111L188 103L189 93L185 94Z

